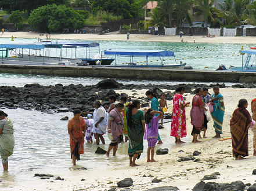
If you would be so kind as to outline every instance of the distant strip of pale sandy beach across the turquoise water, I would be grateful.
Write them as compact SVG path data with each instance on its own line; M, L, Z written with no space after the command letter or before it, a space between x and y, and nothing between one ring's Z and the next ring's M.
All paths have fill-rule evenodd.
M37 32L5 32L0 35L0 38L41 38ZM256 36L216 36L215 38L206 38L203 36L183 36L184 42L193 43L244 43L252 44L256 42ZM130 39L127 40L127 35L121 34L51 34L51 39L70 39L70 40L84 40L84 41L145 41L145 42L181 42L179 36L165 36L165 35L135 35L131 34Z

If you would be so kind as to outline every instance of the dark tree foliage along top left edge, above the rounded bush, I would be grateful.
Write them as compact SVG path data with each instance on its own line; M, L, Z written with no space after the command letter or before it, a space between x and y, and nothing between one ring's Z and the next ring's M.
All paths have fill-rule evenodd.
M0 7L8 13L13 10L31 10L37 9L42 5L70 5L70 0L0 0Z

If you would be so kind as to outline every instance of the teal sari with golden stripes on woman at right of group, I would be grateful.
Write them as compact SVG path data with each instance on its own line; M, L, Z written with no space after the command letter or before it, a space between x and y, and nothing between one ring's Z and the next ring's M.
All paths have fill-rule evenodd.
M218 98L218 100L213 101L213 111L211 113L212 119L214 120L215 133L222 134L222 124L225 113L225 106L221 106L221 103L224 101L223 96L218 94L212 94L211 98Z

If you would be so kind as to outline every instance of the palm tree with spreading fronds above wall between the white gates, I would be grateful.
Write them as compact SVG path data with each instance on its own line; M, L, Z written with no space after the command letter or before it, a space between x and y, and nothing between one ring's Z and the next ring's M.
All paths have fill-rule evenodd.
M194 15L203 15L205 27L208 27L208 21L213 21L214 17L219 13L219 9L215 8L215 0L195 0Z

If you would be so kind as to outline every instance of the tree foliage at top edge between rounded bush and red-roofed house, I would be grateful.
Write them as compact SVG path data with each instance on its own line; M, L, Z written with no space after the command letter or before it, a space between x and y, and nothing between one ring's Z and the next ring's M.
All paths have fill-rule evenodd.
M124 19L137 17L140 14L140 4L135 0L93 0L93 14L100 10L122 16Z

